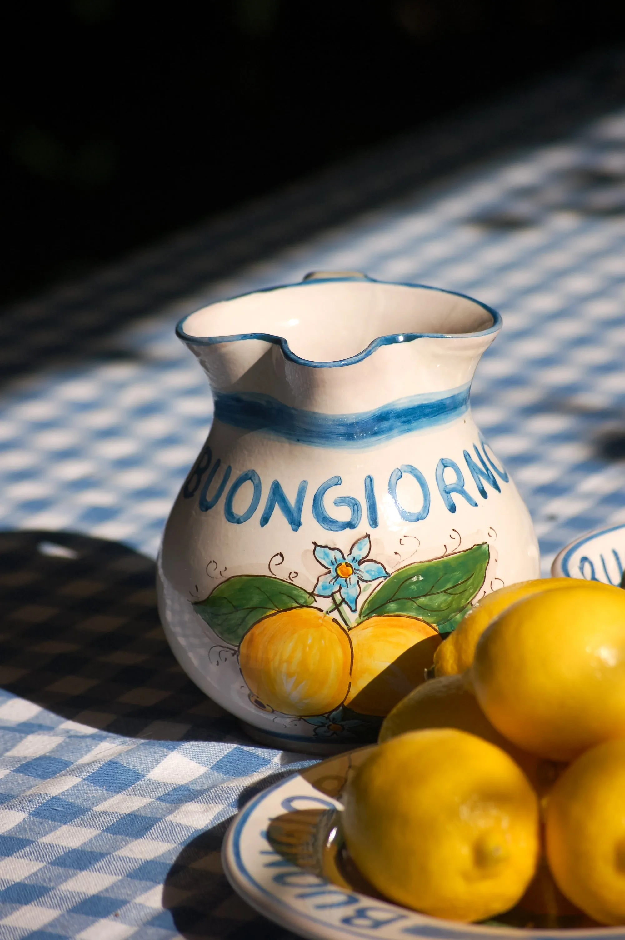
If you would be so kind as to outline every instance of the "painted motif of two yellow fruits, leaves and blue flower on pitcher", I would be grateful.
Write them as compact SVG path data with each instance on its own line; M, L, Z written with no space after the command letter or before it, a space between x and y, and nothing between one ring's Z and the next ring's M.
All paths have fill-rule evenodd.
M323 572L312 591L297 572L236 574L194 602L226 644L216 656L236 656L258 711L299 718L316 737L375 740L380 719L425 682L490 560L481 542L389 573L370 554L368 533L348 551L313 543Z

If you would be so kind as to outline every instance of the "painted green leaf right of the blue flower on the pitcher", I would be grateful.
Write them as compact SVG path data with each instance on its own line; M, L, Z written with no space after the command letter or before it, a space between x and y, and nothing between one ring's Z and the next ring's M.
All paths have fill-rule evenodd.
M482 542L465 552L406 565L369 594L360 619L404 614L433 626L445 624L448 632L447 624L464 610L483 585L489 557L489 546Z

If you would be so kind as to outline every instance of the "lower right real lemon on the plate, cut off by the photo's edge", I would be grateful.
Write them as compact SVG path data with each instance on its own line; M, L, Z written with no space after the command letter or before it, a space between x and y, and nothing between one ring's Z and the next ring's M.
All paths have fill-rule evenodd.
M602 924L625 924L625 741L586 751L547 804L547 860L566 897Z

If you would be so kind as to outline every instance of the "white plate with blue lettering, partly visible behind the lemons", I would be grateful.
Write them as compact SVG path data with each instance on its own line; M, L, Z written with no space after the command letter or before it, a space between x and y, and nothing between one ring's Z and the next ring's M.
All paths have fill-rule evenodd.
M552 574L618 586L624 565L625 524L611 525L571 541L555 556Z

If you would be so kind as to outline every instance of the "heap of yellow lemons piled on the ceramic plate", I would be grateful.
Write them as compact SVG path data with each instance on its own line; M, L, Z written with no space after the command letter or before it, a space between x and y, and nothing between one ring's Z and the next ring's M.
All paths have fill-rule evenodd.
M356 865L392 901L475 921L546 862L588 917L625 923L625 590L502 588L434 665L344 793Z

